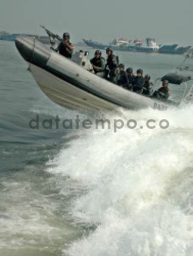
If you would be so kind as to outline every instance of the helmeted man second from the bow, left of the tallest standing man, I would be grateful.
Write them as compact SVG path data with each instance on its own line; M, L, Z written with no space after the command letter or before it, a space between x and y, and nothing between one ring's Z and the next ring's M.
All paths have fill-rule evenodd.
M106 65L106 61L104 57L101 56L101 51L95 51L95 57L90 59L90 63L92 64L93 70L97 76L104 77L104 69Z

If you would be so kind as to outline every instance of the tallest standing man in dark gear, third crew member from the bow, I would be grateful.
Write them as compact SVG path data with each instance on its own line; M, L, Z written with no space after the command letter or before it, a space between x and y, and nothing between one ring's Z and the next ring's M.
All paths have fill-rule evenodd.
M106 67L109 67L109 80L113 84L117 84L118 82L118 60L117 57L113 54L113 50L111 48L106 49L107 53L107 64ZM107 75L106 75L107 78Z

